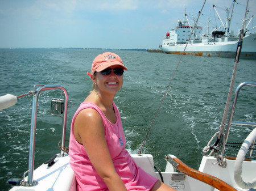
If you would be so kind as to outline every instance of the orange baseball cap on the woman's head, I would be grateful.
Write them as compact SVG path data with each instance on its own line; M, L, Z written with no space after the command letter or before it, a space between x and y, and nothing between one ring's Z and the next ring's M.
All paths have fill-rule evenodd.
M102 71L114 65L118 65L122 67L122 69L128 70L127 67L123 65L123 61L117 54L112 52L105 52L103 54L99 54L96 58L94 58L92 63L92 73L87 72L87 74L92 77L95 71Z

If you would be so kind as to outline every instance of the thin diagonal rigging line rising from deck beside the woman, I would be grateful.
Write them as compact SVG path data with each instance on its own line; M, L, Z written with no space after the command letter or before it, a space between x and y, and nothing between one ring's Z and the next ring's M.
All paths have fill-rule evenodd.
M205 2L206 2L206 0L204 1L204 5L205 5ZM188 40L187 40L187 43L186 43L185 48L184 48L184 50L183 50L183 53L182 53L181 56L180 56L180 60L179 60L179 62L177 63L177 66L176 66L176 69L175 69L175 71L174 71L174 74L172 75L172 78L171 78L171 80L170 80L170 83L168 84L167 90L166 90L166 92L164 93L163 99L162 99L162 101L161 101L161 103L160 103L160 105L159 105L158 111L157 111L156 114L155 114L155 117L154 117L154 120L152 121L152 124L151 124L151 126L150 126L150 129L149 129L148 132L147 132L146 138L144 139L144 141L143 141L143 143L142 143L142 146L141 146L141 148L140 148L139 151L138 151L138 155L141 155L141 152L142 152L142 148L143 148L143 146L144 146L144 143L145 143L146 140L147 140L148 134L150 133L150 130L151 130L151 128L152 128L152 126L153 126L153 124L154 124L154 122L155 122L156 116L158 115L158 112L159 112L159 110L160 110L160 108L161 108L161 106L162 106L162 104L163 104L163 100L164 100L164 98L166 97L167 92L168 92L168 90L169 90L169 88L170 88L170 86L171 86L172 79L174 79L174 75L175 75L175 73L176 73L176 71L177 71L177 68L178 68L179 65L180 65L181 58L183 57L183 55L184 55L184 53L185 53L185 49L187 48L188 42L189 42L189 40L190 40L190 38L191 38L191 36L192 36L192 34L193 34L193 31L194 31L194 29L195 29L195 27L196 27L196 25L197 25L197 22L198 22L198 20L199 20L200 14L201 14L201 12L202 12L202 10L203 10L203 8L204 8L204 5L203 5L203 7L201 8L201 10L199 11L199 15L197 16L196 23L194 24L193 30L192 30L192 32L190 33L190 36L188 37Z

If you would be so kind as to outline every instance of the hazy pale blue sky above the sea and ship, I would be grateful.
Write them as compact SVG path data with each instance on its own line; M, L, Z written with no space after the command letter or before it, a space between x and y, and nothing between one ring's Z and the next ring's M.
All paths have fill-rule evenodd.
M158 49L162 39L183 21L192 24L204 5L199 26L220 26L233 0L0 0L0 48ZM242 26L246 1L237 0L234 33ZM256 15L256 0L248 15ZM255 20L255 19L254 19ZM225 23L225 20L222 20ZM253 21L250 26L255 26ZM255 28L254 28L255 32Z

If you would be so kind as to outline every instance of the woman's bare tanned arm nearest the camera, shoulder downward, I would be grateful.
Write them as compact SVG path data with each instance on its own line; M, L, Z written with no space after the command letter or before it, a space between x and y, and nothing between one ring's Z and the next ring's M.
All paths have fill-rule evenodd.
M93 167L110 191L127 190L115 171L106 143L104 125L100 114L94 109L83 109L74 124L76 141L84 145Z

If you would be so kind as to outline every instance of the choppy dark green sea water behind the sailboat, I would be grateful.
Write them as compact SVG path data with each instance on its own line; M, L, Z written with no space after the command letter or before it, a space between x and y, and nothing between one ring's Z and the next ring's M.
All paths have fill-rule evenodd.
M21 95L35 84L61 84L73 107L68 108L67 135L76 109L89 94L92 82L86 71L94 57L104 50L83 49L0 49L0 96ZM121 113L129 152L138 152L174 74L179 55L113 50L128 67L122 89L115 97ZM218 131L234 60L230 58L183 56L162 107L142 149L152 154L156 167L164 171L164 156L173 154L198 169L202 149ZM241 82L256 82L256 61L240 60L234 90ZM234 92L233 90L233 92ZM59 91L39 96L36 126L35 168L59 152L61 119L51 116L51 99ZM256 88L244 87L238 100L236 121L256 122ZM233 99L232 99L233 100ZM18 99L0 111L0 190L9 190L7 180L22 177L28 169L32 96ZM243 142L252 128L233 126L230 142ZM215 140L215 139L214 139ZM235 156L237 148L226 148ZM255 154L253 156L255 158Z

